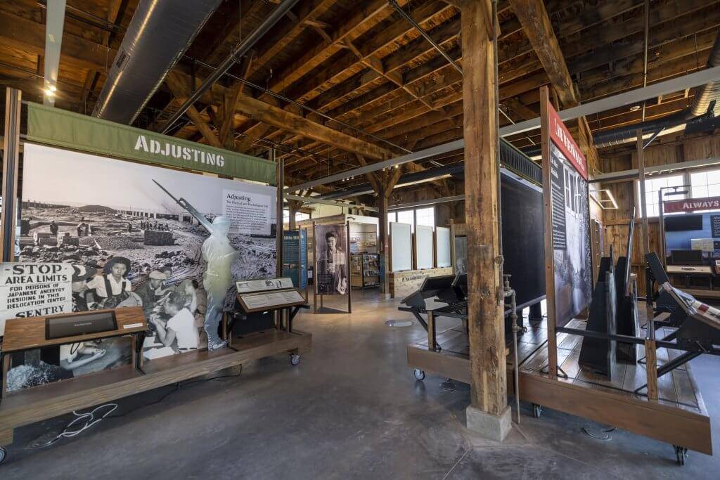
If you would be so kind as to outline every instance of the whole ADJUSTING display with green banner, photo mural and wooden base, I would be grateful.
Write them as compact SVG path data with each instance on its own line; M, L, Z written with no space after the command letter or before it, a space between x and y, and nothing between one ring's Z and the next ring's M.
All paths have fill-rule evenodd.
M222 338L235 281L282 275L274 162L7 99L6 145L25 141L4 155L0 274L23 287L1 305L0 445L21 425L310 348L282 322Z

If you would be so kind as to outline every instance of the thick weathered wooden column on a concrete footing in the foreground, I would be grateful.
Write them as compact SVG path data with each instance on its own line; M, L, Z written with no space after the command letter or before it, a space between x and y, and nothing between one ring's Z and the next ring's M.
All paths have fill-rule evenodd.
M490 0L463 0L468 324L472 404L467 427L493 440L510 431L498 234L497 85Z

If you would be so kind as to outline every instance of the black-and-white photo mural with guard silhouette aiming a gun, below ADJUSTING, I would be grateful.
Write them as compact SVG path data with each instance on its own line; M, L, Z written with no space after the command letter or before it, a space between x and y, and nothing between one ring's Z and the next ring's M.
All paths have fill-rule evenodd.
M142 307L148 360L222 345L217 324L235 281L275 273L272 186L28 142L22 199L20 263L71 266L73 311ZM68 348L72 373L130 361L121 340ZM30 367L17 383L32 384L57 357L14 362Z

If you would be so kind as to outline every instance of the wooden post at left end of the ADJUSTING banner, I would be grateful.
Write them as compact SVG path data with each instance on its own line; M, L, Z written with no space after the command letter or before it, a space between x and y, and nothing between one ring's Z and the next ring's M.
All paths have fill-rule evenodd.
M20 109L22 92L5 89L5 136L2 159L2 210L0 212L0 256L4 262L15 257L15 220L17 213L17 182L20 163Z

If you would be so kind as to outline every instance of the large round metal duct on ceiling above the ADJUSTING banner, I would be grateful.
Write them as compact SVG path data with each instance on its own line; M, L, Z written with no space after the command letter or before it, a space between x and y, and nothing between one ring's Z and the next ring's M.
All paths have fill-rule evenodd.
M221 1L140 0L93 116L134 122Z

